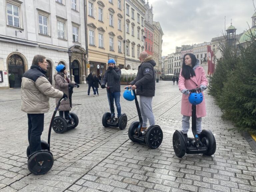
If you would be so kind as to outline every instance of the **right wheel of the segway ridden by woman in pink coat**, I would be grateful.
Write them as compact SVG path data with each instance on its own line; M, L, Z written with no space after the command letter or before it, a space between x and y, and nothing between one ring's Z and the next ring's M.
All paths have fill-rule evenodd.
M214 135L210 130L203 129L202 132L200 133L200 141L207 146L207 152L205 155L211 156L215 153L216 151L216 140Z

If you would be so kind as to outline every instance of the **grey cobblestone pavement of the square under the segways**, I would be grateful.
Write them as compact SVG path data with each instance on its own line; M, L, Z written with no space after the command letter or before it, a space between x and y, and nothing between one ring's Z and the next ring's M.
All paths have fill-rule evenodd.
M102 115L109 111L106 89L99 90L99 97L87 97L86 90L87 85L81 85L73 94L78 127L63 134L52 131L54 165L39 176L27 169L27 115L20 111L20 89L0 90L0 192L256 191L255 152L240 133L227 131L233 125L221 119L213 97L205 96L207 116L202 127L213 132L216 153L178 158L172 147L172 134L181 128L182 117L177 85L156 84L153 112L164 134L157 149L128 138L129 125L138 120L134 101L120 98L128 117L126 129L104 128ZM50 99L51 109L45 114L45 141L54 101Z

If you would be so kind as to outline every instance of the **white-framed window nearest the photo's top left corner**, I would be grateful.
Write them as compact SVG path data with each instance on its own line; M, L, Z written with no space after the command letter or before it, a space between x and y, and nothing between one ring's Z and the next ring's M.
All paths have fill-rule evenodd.
M7 3L6 5L8 25L20 27L19 7L10 3Z

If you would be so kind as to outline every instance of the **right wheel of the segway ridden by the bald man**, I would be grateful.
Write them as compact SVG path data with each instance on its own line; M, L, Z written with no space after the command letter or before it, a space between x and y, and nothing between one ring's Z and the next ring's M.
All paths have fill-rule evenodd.
M161 145L163 141L163 131L158 125L150 126L145 135L145 142L151 148L155 149Z

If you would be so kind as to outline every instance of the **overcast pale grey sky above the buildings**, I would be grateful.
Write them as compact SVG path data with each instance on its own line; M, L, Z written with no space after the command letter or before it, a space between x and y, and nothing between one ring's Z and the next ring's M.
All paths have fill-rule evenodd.
M145 0L147 2L147 0ZM164 32L162 56L175 52L175 46L209 42L232 25L242 33L252 24L252 0L148 0L154 21ZM254 0L256 5L256 0Z

